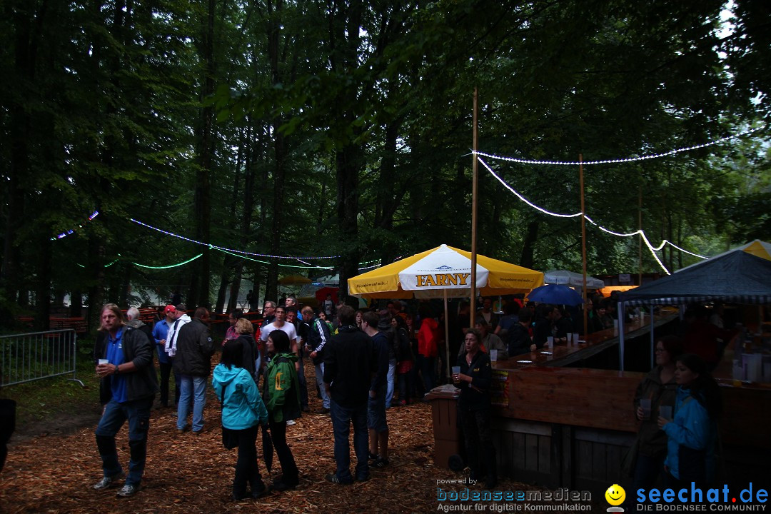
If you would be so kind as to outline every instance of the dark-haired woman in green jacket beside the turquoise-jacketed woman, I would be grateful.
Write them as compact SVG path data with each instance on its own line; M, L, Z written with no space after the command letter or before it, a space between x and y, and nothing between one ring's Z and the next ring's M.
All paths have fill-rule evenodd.
M265 349L271 356L265 376L265 388L268 391L268 419L282 472L282 475L274 480L271 489L285 491L295 489L300 483L300 472L286 437L287 420L301 416L300 385L297 371L295 371L297 355L289 348L289 336L281 330L274 330L268 335Z

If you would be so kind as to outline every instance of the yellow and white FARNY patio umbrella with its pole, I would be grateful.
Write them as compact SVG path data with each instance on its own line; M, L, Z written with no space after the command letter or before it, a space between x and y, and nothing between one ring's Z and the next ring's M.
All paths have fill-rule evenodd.
M348 294L364 298L443 298L445 334L447 298L469 297L471 252L448 247L426 250L348 279ZM544 284L544 274L503 260L476 255L476 290L482 296L527 293ZM449 376L449 344L446 348Z

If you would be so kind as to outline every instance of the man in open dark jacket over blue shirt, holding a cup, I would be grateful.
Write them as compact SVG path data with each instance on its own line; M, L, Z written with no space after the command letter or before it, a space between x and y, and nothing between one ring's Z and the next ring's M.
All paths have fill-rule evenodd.
M100 330L106 332L96 374L102 378L109 401L96 427L96 447L102 457L103 478L93 489L115 485L125 474L120 467L115 435L129 422L129 475L118 496L140 490L147 454L147 430L158 382L153 367L153 342L140 330L127 327L116 304L102 307Z

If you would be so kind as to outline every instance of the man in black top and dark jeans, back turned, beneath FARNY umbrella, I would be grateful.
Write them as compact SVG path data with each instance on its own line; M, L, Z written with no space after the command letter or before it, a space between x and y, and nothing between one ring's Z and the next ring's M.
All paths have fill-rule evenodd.
M356 313L353 307L338 307L338 319L338 334L324 349L324 386L330 396L337 463L336 472L326 475L326 479L335 484L350 484L353 482L348 445L351 424L357 461L356 479L369 479L367 401L376 363L372 339L356 328Z

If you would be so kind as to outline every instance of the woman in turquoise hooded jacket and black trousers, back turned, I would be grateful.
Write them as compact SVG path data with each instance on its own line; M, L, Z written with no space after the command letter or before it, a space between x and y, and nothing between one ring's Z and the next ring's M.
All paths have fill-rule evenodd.
M251 487L251 498L266 492L257 465L257 432L260 424L268 423L265 408L254 378L243 365L244 347L241 339L226 341L222 358L211 380L217 397L222 401L222 426L233 432L238 441L238 462L233 479L233 499L249 497L246 485Z

